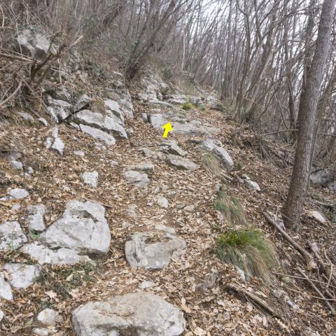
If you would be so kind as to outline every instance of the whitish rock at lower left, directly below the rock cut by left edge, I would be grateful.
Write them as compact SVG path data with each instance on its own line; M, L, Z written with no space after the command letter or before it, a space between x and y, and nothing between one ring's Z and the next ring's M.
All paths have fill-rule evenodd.
M10 285L17 289L29 287L41 274L40 269L35 265L7 263L3 269L8 271Z

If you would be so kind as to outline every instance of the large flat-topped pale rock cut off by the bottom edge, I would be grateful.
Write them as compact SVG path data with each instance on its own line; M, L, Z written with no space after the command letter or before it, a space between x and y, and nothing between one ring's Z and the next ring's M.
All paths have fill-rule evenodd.
M89 302L72 314L77 336L178 336L186 328L183 312L151 293L130 293Z

